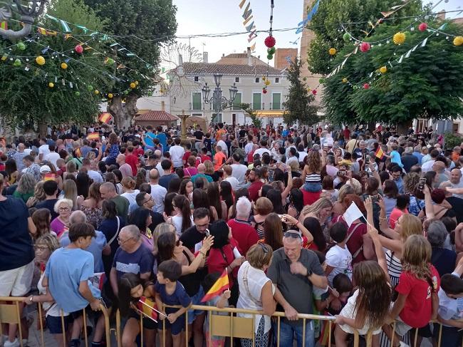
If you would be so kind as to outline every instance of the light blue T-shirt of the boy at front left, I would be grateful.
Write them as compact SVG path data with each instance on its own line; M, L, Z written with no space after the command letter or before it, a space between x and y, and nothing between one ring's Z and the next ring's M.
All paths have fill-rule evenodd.
M65 312L76 312L90 304L79 292L81 281L88 281L93 276L93 257L83 249L56 249L51 254L45 268L48 288L56 304ZM93 296L101 297L100 290L90 281L88 287Z

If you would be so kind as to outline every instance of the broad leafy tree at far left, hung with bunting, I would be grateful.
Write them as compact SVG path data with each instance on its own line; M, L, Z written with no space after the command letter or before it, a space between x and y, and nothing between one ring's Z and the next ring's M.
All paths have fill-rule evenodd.
M89 29L103 29L102 21L81 1L53 0L47 14ZM43 16L38 26L55 28L56 22ZM71 29L71 35L78 33L76 28ZM100 98L85 85L103 85L100 71L104 68L98 56L72 54L77 42L75 38L65 40L61 34L16 43L0 41L0 56L6 57L0 61L0 114L4 125L38 128L45 135L47 124L86 123L94 119ZM92 46L98 47L98 42ZM56 52L66 52L72 58L68 60ZM38 66L36 56L43 56L46 63ZM68 67L61 68L66 61Z

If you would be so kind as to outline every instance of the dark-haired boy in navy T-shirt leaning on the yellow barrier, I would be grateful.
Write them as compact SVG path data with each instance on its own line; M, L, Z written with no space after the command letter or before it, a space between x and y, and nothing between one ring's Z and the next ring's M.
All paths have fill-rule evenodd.
M184 339L184 326L185 317L184 313L187 311L189 306L192 304L192 300L189 298L187 291L185 291L182 284L177 281L182 275L182 266L177 263L174 259L162 261L157 268L157 283L155 284L156 289L156 305L162 311L162 305L166 304L169 306L182 305L182 309L172 309L166 307L165 313L167 314L167 321L165 316L160 315L160 322L157 328L160 330L160 336L162 336L162 328L165 324L165 328L171 329L173 347L182 346L182 340Z

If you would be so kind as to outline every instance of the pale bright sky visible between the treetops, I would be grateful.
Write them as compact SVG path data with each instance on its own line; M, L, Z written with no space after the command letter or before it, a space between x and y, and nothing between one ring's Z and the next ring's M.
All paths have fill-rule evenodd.
M270 24L270 0L246 0L246 6L251 2L250 9L254 16L257 30L269 30ZM323 1L323 0L322 0ZM447 1L447 2L446 2ZM241 0L173 0L177 6L177 36L189 36L210 33L236 33L244 32L243 9L239 9ZM434 11L442 9L452 11L463 10L462 0L433 0L432 4L437 4ZM400 0L397 0L400 4ZM438 4L439 3L439 4ZM295 28L302 20L303 0L274 0L274 29ZM457 13L447 14L447 17L456 16ZM460 13L458 17L463 16ZM250 23L250 22L249 22ZM249 24L248 23L248 24ZM259 33L251 44L256 42L256 52L254 56L261 56L266 61L266 46L264 39L267 33ZM299 48L298 40L301 34L296 34L296 30L276 31L276 48ZM250 46L247 41L247 33L219 38L199 37L199 38L179 38L179 43L186 43L196 48L202 54L203 50L208 52L209 63L218 61L222 54L243 53L246 47Z

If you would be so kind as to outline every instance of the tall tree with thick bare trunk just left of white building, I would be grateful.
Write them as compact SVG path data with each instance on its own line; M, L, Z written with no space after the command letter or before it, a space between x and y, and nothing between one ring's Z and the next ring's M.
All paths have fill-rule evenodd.
M117 37L120 45L113 46L114 60L122 67L114 68L115 77L129 78L129 82L115 80L114 90L125 90L108 103L108 111L119 128L128 127L137 113L137 99L152 93L160 81L157 66L162 43L171 43L177 31L177 7L172 0L84 0L100 19L108 20L105 31ZM127 56L128 51L135 56ZM130 82L136 88L130 88ZM125 100L125 103L123 103Z

